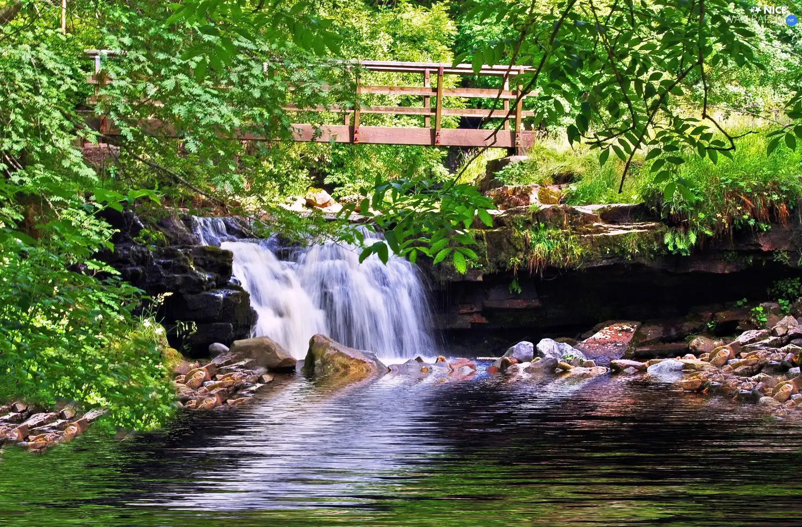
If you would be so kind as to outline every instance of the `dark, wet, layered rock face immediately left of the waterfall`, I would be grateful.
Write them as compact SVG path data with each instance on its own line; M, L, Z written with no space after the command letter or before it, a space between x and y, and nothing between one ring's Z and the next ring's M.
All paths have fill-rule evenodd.
M114 250L103 250L97 257L146 295L169 293L157 316L164 320L172 347L189 356L208 356L209 344L231 344L250 335L256 312L248 293L231 279L231 251L201 245L176 216L146 226L131 211L108 209L103 219L119 232L111 239ZM160 239L140 243L146 228ZM194 323L195 331L188 332L182 323Z

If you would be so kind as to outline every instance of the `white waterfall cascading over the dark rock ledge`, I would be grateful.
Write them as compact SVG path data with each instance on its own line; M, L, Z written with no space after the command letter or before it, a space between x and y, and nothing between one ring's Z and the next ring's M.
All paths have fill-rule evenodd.
M385 359L436 352L427 292L406 259L384 264L371 255L359 263L357 247L328 242L281 260L274 240L237 239L222 219L195 218L194 227L201 243L233 253L233 276L258 315L253 336L269 336L297 358L315 333Z

